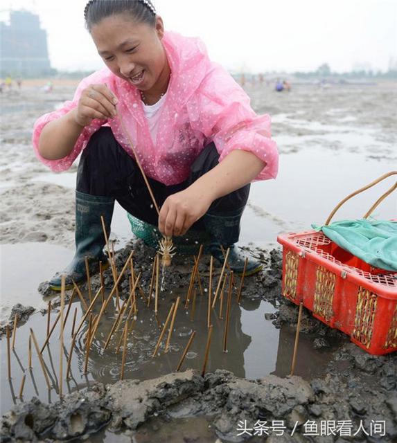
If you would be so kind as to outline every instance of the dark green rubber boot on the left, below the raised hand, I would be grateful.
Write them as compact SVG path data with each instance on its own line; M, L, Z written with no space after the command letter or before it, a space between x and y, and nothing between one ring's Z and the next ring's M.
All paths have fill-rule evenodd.
M109 236L113 209L114 197L99 197L76 191L76 253L69 266L50 280L53 291L61 290L62 275L66 276L66 289L73 287L73 281L78 283L87 280L85 257L88 257L90 275L98 273L100 261L103 269L109 266L107 256L103 253L105 236L100 216L103 216Z

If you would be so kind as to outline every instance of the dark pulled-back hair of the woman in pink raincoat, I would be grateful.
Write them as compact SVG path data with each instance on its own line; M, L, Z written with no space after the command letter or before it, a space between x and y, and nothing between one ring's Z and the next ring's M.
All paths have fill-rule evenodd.
M91 31L102 19L125 12L138 23L156 24L156 10L150 0L89 0L84 10L85 26Z

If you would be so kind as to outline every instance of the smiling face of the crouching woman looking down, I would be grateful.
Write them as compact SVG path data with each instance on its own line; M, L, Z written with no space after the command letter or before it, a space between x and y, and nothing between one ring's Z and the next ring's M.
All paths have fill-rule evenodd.
M150 91L169 73L161 44L161 17L156 18L156 26L152 27L136 23L127 13L112 15L92 26L91 36L110 71L141 91Z

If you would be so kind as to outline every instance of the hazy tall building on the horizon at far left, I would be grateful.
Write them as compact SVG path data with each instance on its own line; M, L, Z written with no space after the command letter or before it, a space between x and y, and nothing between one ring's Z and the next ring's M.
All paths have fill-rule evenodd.
M0 21L0 75L38 77L53 73L46 30L32 12L10 11L10 24Z

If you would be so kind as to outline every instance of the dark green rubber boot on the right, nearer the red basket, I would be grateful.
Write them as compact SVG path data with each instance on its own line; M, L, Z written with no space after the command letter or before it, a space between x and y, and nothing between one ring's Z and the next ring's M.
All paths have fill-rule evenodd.
M263 265L261 262L246 257L235 245L235 243L238 242L238 237L240 235L240 219L243 210L244 208L224 213L223 215L212 215L207 213L204 215L204 224L211 236L211 255L220 262L220 264L223 264L224 254L226 254L227 248L229 248L230 251L227 262L229 263L231 270L237 275L242 275L245 259L247 258L245 275L252 275L261 271Z

